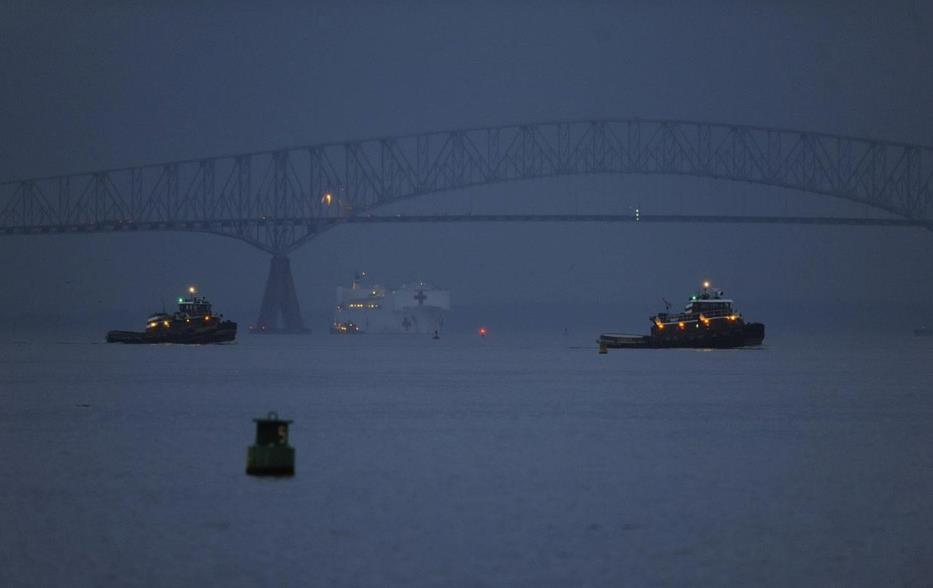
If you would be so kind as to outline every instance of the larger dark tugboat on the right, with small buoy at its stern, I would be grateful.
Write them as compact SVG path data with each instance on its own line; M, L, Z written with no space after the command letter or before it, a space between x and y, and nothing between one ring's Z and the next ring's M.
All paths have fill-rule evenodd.
M745 322L732 307L732 300L723 298L722 290L710 287L709 282L703 282L703 288L690 297L682 313L659 312L649 320L650 335L600 335L596 340L599 352L664 347L727 349L760 345L765 338L764 324Z

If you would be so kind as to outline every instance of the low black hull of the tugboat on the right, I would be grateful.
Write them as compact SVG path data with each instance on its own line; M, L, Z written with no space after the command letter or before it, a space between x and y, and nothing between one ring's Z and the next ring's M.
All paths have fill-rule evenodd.
M597 343L603 349L734 349L761 345L765 338L762 323L746 323L735 328L703 329L699 332L672 332L670 335L622 335L604 333Z

